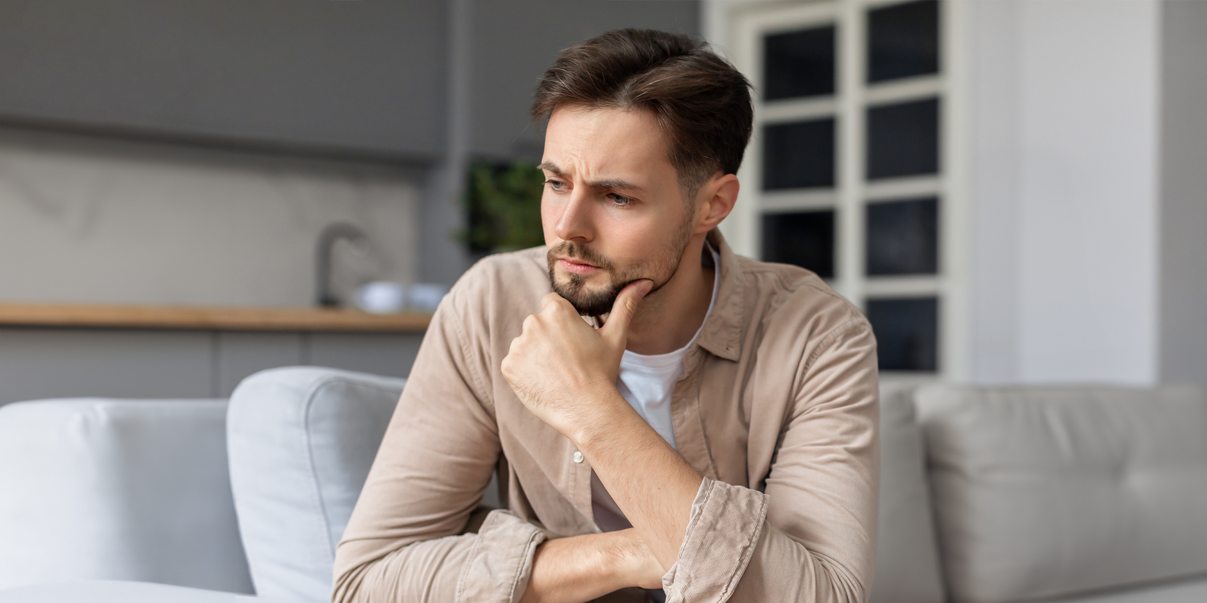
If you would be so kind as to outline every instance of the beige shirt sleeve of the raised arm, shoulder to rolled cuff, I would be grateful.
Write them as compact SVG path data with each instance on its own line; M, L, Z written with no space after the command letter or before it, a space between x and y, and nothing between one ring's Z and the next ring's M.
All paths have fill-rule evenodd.
M801 362L765 492L704 478L667 603L862 603L879 480L875 338L859 317Z

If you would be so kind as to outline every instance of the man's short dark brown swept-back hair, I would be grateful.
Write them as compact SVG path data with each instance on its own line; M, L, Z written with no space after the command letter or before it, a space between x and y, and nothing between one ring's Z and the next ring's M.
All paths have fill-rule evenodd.
M532 117L558 105L642 109L670 142L670 162L692 200L718 170L736 174L754 119L750 82L688 36L619 29L562 51L541 77Z

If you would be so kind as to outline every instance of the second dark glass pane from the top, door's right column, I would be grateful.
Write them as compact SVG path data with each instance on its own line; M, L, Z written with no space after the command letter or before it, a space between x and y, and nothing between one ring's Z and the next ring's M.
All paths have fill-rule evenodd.
M939 99L868 110L868 178L939 171Z

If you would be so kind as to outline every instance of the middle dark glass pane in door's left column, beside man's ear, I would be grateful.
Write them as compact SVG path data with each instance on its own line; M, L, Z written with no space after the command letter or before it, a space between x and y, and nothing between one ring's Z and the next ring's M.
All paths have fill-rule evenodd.
M763 127L763 189L834 186L834 118Z

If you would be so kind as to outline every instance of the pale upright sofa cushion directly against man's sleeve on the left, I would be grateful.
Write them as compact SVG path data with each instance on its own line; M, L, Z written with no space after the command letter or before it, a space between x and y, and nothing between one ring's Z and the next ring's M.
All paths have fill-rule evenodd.
M264 370L231 396L231 484L256 593L331 599L348 527L406 385L317 367Z

